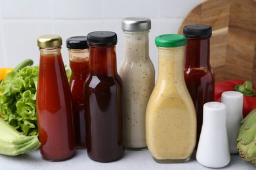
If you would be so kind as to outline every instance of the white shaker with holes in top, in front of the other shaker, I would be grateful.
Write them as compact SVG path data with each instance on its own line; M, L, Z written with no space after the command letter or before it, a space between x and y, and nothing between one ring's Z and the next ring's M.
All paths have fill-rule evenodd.
M226 131L226 106L220 102L203 105L203 125L196 160L206 167L224 167L230 162Z

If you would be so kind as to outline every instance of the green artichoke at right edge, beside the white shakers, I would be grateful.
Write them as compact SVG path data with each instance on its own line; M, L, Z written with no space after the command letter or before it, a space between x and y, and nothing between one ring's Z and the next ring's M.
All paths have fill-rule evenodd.
M252 110L241 124L236 148L243 160L256 165L256 109Z

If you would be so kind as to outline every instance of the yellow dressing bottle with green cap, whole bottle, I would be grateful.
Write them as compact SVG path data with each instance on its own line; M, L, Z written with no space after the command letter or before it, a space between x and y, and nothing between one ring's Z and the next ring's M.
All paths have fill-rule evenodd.
M196 145L196 111L183 75L186 37L160 35L158 80L146 108L146 144L158 163L190 160Z

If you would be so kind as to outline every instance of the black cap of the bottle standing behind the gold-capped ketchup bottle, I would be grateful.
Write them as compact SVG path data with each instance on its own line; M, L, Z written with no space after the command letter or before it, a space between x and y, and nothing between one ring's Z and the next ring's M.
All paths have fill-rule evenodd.
M86 36L70 37L66 40L66 46L70 49L86 49L89 48Z

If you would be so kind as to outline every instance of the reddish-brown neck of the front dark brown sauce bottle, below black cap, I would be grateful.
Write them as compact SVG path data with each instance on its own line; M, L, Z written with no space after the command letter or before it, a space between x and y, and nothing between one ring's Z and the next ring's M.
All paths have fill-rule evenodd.
M91 75L116 76L116 45L90 46Z

